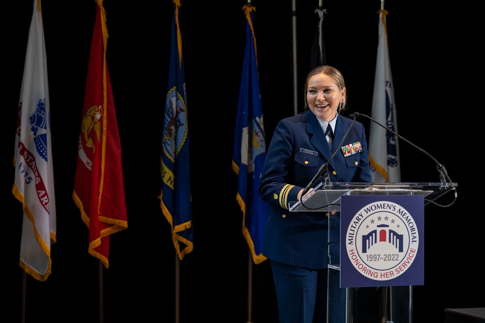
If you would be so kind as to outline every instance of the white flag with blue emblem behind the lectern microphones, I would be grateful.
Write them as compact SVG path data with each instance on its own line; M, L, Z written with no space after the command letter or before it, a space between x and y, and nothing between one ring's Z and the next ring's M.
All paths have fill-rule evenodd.
M378 13L380 18L379 45L377 46L377 63L372 97L372 119L398 133L386 28L388 12L387 10L379 10ZM369 132L369 160L371 162L372 182L401 182L398 137L373 122L371 122Z

